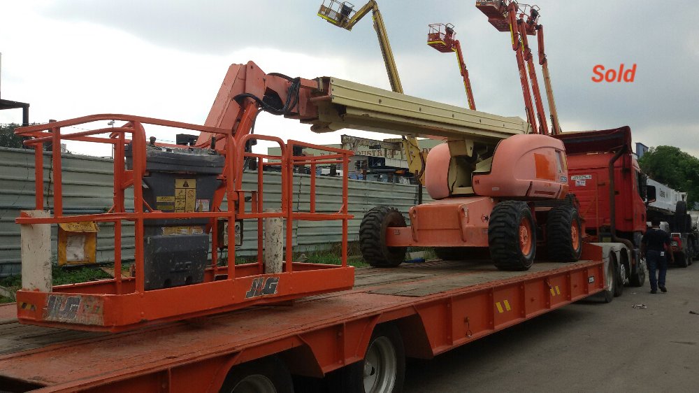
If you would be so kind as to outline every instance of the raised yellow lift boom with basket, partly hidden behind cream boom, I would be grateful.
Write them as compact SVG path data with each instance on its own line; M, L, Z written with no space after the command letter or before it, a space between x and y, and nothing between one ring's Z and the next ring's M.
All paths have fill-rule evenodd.
M362 17L371 11L374 20L374 30L379 38L379 46L381 55L384 57L386 72L391 83L391 90L403 94L403 85L401 85L401 77L398 76L398 68L396 60L391 51L391 43L389 36L386 33L386 26L381 17L379 6L374 0L368 1L359 10L354 10L354 4L349 1L324 0L318 10L318 16L324 20L343 29L352 30L352 27L361 20ZM405 158L408 161L408 169L415 177L419 179L421 184L424 184L425 159L417 143L417 138L413 135L403 137L403 150L405 150Z

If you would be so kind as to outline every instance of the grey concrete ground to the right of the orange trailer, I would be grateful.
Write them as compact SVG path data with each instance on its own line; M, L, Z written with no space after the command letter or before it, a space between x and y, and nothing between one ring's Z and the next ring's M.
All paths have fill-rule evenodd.
M404 391L699 392L699 262L670 268L667 287L650 294L647 280L411 360Z

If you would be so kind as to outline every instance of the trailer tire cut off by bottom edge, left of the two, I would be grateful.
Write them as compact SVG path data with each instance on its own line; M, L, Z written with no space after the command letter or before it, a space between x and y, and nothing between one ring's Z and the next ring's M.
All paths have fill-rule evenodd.
M250 385L251 380L268 381L274 385L277 393L294 393L291 373L276 356L263 357L234 366L226 376L220 392L250 392L250 389L253 388Z

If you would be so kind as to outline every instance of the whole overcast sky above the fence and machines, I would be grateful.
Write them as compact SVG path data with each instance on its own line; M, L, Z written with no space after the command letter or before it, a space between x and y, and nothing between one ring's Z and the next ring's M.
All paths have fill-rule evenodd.
M30 103L32 122L127 113L203 124L232 63L253 60L268 73L336 76L389 89L370 17L352 31L338 29L317 17L320 2L5 0L0 95ZM510 36L491 27L475 1L379 3L406 94L466 106L454 56L426 45L428 24L451 22L477 108L525 117ZM538 5L564 131L628 124L636 142L699 155L699 2ZM597 64L621 63L637 64L633 83L592 82ZM0 122L21 120L21 110L0 112ZM375 137L317 135L272 115L259 117L257 132L313 143L339 143L340 134Z

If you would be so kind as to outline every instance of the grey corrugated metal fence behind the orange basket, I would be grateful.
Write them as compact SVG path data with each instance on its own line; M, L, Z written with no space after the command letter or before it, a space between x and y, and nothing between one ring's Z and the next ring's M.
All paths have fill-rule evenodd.
M44 158L45 208L52 208L52 180L50 154ZM111 159L65 155L62 159L64 212L66 214L103 213L112 206L113 163ZM20 210L34 209L34 150L0 148L0 277L20 272L20 227L15 218ZM342 203L342 179L319 177L316 183L316 210L337 212ZM243 188L257 190L257 175L246 173ZM310 176L294 176L295 210L308 211L310 206ZM264 174L265 208L278 208L281 199L279 173ZM424 192L425 201L429 197ZM359 223L373 206L394 206L403 213L417 203L417 186L349 180L349 240L359 238ZM127 193L127 208L133 207L133 195ZM407 218L407 215L406 215ZM245 222L243 247L238 256L257 252L257 224ZM101 224L97 238L98 262L113 261L114 230L112 224ZM340 221L295 221L294 250L323 250L342 239ZM52 232L52 246L56 246L56 229ZM122 223L122 257L134 255L134 226Z

